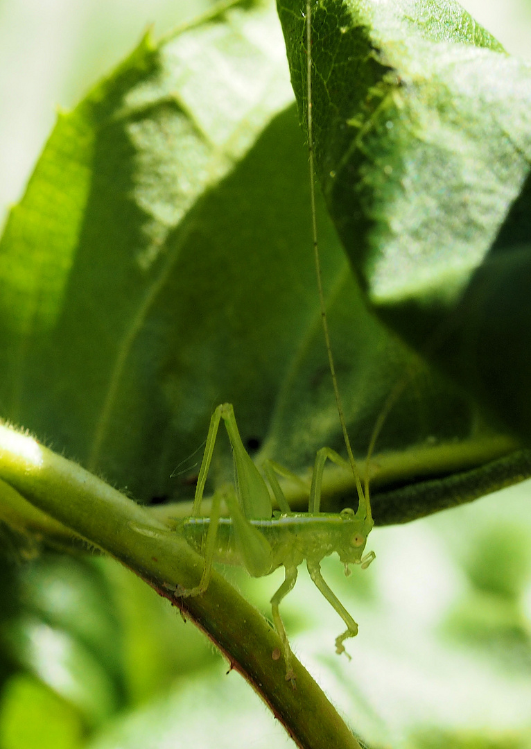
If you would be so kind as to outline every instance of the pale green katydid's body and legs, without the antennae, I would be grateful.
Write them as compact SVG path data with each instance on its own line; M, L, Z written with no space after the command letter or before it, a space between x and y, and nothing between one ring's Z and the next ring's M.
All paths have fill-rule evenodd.
M207 479L219 422L223 419L231 441L234 456L234 487L225 486L213 496L210 518L199 515L204 484ZM344 640L357 634L358 626L321 574L321 560L336 552L350 574L350 564L367 567L374 552L363 556L368 533L373 526L368 497L359 494L356 512L347 508L338 514L319 512L321 481L327 459L350 470L350 464L330 448L322 448L315 458L312 485L309 492L309 512L294 513L276 479L276 473L292 474L266 461L264 471L280 507L273 515L270 492L266 482L243 446L231 404L219 405L213 413L195 490L192 516L177 521L176 530L204 557L201 582L196 588L177 590L177 595L198 595L207 589L212 562L243 565L252 577L263 577L284 566L285 580L271 598L273 622L282 640L286 664L286 679L294 682L291 668L291 649L279 613L282 598L297 580L297 567L306 560L306 566L315 585L342 617L347 629L336 637L336 652L345 652ZM300 481L297 476L294 479ZM219 517L220 500L225 500L229 518Z

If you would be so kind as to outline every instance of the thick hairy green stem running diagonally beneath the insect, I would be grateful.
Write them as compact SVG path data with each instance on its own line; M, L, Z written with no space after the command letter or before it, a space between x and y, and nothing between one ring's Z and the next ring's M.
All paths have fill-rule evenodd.
M297 688L285 681L283 659L273 658L273 653L282 652L276 632L221 575L212 574L203 595L175 595L178 586L198 584L203 560L141 506L32 437L2 425L0 479L0 503L7 497L4 518L13 518L15 513L16 526L21 527L24 503L30 503L28 527L35 530L41 521L43 534L70 530L135 571L210 637L297 746L360 749L351 730L295 658Z

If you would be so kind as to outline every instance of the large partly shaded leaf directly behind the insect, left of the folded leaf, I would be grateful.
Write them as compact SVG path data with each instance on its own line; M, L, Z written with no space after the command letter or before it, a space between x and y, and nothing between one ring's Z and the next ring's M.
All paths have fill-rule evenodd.
M372 67L369 58L364 75ZM305 471L324 444L342 449L307 152L290 101L268 4L213 13L158 45L147 37L60 115L10 214L0 244L3 415L139 500L189 496L198 458L172 472L200 448L221 401L234 403L244 442L261 446L258 461ZM524 475L518 458L501 476L495 463L486 480L470 479L515 443L368 312L321 202L318 225L356 453L365 456L389 395L407 381L380 431L373 488L437 479L437 497L433 486L415 503L383 497L377 521ZM230 473L228 446L223 455ZM439 482L456 472L457 485ZM324 488L330 507L356 503L351 476L330 470ZM303 507L307 497L291 500Z

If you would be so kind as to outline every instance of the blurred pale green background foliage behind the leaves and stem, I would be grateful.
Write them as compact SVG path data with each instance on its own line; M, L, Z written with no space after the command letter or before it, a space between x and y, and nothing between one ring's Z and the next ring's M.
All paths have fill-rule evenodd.
M464 6L531 59L530 0ZM0 213L22 194L57 106L76 103L147 25L207 0L0 0ZM283 604L295 652L376 748L531 747L530 483L377 529L377 564L325 575L360 623L352 661L307 577ZM0 749L255 748L291 741L166 601L114 562L1 530ZM278 575L234 583L264 611Z

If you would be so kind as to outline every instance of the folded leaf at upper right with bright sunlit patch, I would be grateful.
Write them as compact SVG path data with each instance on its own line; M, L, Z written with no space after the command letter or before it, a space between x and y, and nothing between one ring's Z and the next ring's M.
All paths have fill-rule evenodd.
M306 122L302 0L279 0ZM531 69L452 0L312 3L315 157L371 306L529 440Z

